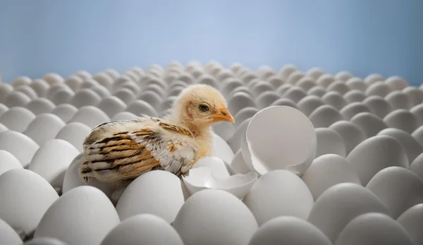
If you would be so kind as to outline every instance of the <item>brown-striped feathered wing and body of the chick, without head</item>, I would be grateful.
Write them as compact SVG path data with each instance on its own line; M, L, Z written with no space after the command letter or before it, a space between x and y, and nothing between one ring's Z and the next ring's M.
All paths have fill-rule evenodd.
M135 179L152 169L188 172L198 145L188 129L160 119L111 122L98 126L84 143L81 176L100 181Z

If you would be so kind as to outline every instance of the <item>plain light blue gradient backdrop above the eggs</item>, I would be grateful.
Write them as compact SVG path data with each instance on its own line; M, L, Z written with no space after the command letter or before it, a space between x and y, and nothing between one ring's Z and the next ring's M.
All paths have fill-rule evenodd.
M62 76L179 60L423 82L422 0L0 0L0 69Z

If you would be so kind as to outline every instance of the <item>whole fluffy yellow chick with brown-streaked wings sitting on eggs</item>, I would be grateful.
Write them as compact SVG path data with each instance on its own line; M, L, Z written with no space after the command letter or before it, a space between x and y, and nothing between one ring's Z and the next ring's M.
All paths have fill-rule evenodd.
M188 174L210 155L211 126L221 121L235 123L223 95L209 85L191 85L164 118L142 115L96 126L83 143L80 177L125 186L154 169Z

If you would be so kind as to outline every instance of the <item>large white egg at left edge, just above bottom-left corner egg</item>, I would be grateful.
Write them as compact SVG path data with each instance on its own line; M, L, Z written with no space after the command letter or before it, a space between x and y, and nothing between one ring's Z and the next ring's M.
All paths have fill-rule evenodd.
M30 234L59 196L41 176L27 169L0 175L0 219Z

